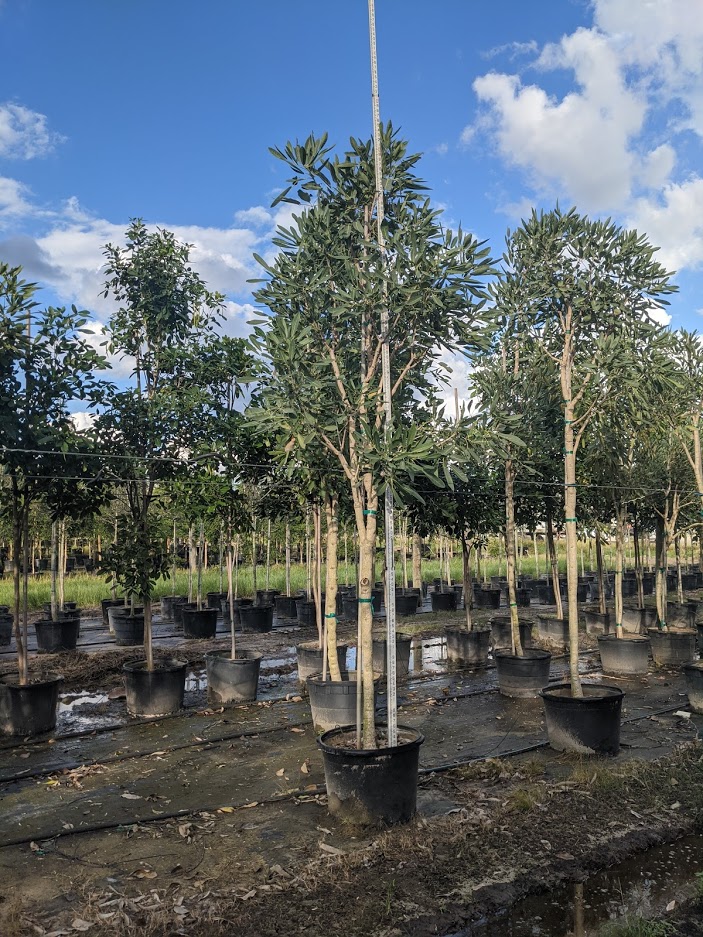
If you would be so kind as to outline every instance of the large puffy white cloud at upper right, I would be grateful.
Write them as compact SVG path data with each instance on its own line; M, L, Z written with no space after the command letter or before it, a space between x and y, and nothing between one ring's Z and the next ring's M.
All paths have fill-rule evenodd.
M671 269L699 267L703 174L691 149L703 139L703 4L640 0L634 15L631 0L591 8L592 26L535 49L529 81L498 71L474 81L479 111L462 142L487 137L520 173L527 192L506 213L568 200L635 225ZM563 92L546 90L564 75Z

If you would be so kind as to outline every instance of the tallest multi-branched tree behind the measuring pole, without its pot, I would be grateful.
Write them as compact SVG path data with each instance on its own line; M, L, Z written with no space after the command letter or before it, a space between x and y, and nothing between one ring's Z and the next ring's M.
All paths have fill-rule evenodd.
M481 335L488 249L445 231L415 175L419 157L390 125L382 132L385 249L374 236L371 141L332 156L326 136L271 152L293 176L280 200L308 205L279 229L279 253L255 296L271 316L254 340L270 364L264 413L290 454L325 448L349 486L359 544L360 689L364 747L376 747L372 667L373 559L379 496L412 497L421 474L441 484L431 422L414 423L433 395L441 356ZM393 424L384 432L381 309L389 310ZM409 481L401 482L402 468Z

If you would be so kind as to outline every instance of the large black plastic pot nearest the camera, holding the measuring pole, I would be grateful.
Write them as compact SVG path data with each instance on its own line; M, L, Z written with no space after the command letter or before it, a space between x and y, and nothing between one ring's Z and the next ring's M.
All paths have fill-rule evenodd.
M377 727L383 738L383 727ZM352 726L325 732L317 741L325 767L331 814L363 826L407 823L415 815L417 770L424 736L398 726L392 748L355 748Z

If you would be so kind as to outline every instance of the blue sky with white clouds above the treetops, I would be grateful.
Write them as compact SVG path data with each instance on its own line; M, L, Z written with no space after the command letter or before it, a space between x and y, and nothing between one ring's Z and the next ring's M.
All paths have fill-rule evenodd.
M531 208L645 231L703 325L703 0L376 0L381 114L495 254ZM370 136L366 0L0 0L0 258L98 321L101 247L175 230L244 334L271 145Z

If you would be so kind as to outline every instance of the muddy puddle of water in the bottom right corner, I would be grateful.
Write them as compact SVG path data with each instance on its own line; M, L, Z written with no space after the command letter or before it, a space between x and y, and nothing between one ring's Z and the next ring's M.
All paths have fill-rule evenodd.
M693 834L591 876L518 902L451 937L597 937L608 921L662 914L696 890L703 835Z

